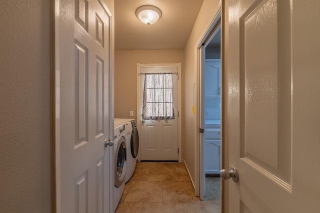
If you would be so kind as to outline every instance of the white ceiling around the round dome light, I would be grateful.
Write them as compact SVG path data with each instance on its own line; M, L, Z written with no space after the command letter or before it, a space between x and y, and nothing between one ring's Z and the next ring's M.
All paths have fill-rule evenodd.
M116 50L184 49L203 0L114 0ZM135 10L150 4L162 11L154 24L143 24Z

